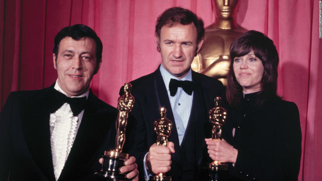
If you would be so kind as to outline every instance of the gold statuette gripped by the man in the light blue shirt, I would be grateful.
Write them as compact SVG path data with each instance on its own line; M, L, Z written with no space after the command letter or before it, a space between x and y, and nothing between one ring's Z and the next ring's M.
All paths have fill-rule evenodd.
M166 146L168 143L168 137L171 133L172 122L166 118L166 108L160 109L161 118L153 123L154 131L157 134L156 145ZM171 176L165 176L165 173L158 173L155 176L150 176L152 181L170 181Z

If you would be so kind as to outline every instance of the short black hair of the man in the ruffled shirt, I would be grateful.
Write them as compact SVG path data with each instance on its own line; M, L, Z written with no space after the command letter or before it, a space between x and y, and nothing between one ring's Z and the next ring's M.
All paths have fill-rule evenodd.
M57 61L57 54L59 50L59 43L62 41L65 37L71 37L74 40L80 40L81 38L88 37L95 41L96 43L96 68L94 73L96 74L99 68L99 63L102 59L102 50L103 50L103 44L102 41L99 39L97 34L88 26L84 24L75 24L72 26L67 26L63 28L58 34L55 36L54 40L54 49L52 52L56 56Z

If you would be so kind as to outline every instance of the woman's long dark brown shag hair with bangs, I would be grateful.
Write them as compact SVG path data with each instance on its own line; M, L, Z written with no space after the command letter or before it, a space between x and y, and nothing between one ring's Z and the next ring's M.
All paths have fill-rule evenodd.
M226 98L230 105L237 107L242 99L242 86L236 80L233 63L235 57L242 57L253 51L263 64L264 72L261 79L261 87L256 104L263 105L273 98L280 98L277 95L277 66L279 55L271 39L261 32L254 30L243 33L230 46L230 68L227 76Z

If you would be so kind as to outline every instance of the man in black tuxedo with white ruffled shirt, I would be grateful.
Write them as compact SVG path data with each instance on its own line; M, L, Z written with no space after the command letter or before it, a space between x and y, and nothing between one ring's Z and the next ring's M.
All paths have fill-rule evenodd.
M93 180L104 150L114 148L117 110L89 87L102 42L76 24L63 28L54 43L57 81L12 92L0 113L0 180ZM135 158L125 165L120 171L137 177Z

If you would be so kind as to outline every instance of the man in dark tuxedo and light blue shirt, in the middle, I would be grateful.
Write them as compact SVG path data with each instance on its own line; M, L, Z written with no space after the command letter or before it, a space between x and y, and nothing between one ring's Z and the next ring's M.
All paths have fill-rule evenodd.
M135 97L130 114L136 123L130 154L137 159L140 180L165 172L172 180L202 180L207 175L202 174L202 160L209 158L204 141L211 137L208 111L222 95L223 85L191 70L203 36L203 21L190 10L173 7L157 19L162 63L155 72L130 82ZM166 108L173 124L167 147L156 146L153 130L160 107Z

